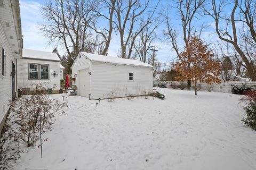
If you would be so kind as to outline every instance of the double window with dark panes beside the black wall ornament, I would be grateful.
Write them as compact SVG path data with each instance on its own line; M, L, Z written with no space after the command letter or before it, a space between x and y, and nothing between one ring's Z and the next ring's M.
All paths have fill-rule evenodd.
M29 64L29 79L49 79L49 65Z

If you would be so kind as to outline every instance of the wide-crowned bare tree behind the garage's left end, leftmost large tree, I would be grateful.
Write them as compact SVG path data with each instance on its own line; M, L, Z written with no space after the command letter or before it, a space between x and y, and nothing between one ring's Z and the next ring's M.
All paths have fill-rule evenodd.
M44 19L41 30L49 43L65 46L69 56L75 57L86 51L86 39L90 36L89 25L95 23L99 2L94 0L54 0L42 7ZM71 52L73 54L71 55Z

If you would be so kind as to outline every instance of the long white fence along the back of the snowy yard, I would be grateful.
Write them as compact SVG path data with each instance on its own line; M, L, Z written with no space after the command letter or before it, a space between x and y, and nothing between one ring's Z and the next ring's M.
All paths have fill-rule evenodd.
M163 82L163 81L162 81ZM167 88L177 88L179 89L179 85L181 83L187 83L187 82L180 82L180 81L165 81L164 83L166 84ZM154 84L157 85L159 84L159 81L154 81ZM246 81L246 82L241 82L241 81L230 81L226 83L221 83L221 84L213 84L213 87L211 91L218 91L218 92L230 92L231 91L231 84L237 85L237 86L242 86L243 84L246 84L247 86L254 86L256 88L256 81ZM206 83L200 83L197 82L197 89L202 90L202 91L207 91L207 88L210 88L209 84ZM191 84L192 88L194 88L193 84ZM186 88L185 88L186 89Z

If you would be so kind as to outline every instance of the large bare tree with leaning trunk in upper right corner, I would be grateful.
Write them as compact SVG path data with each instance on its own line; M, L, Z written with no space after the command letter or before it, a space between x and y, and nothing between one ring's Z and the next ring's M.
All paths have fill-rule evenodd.
M244 2L244 5L242 5ZM215 31L218 37L231 45L233 45L236 52L241 56L243 63L250 75L252 81L256 81L256 69L253 65L253 62L250 61L250 57L246 55L244 49L241 45L239 45L239 32L237 29L237 22L242 23L243 25L247 25L247 28L250 30L250 37L253 39L251 42L256 42L255 36L255 1L244 0L238 4L238 0L234 1L234 6L232 8L230 15L222 15L222 10L226 7L227 3L225 1L215 1L212 0L210 3L210 8L204 6L205 13L210 15L215 21ZM228 4L230 5L230 4ZM239 16L237 16L237 8L241 11ZM226 23L225 28L222 28L221 25ZM231 32L231 33L230 33ZM255 40L254 40L255 38Z

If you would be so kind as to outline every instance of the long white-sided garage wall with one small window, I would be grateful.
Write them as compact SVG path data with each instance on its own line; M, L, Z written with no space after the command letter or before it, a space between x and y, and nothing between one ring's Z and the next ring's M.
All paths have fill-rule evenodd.
M133 73L132 79L127 75ZM153 90L153 70L139 66L93 63L91 99L142 95Z

